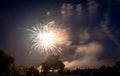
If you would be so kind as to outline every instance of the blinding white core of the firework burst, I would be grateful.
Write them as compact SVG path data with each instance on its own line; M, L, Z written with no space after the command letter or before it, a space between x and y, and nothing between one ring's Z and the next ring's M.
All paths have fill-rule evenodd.
M38 35L39 40L44 46L50 46L54 44L54 33L45 32Z

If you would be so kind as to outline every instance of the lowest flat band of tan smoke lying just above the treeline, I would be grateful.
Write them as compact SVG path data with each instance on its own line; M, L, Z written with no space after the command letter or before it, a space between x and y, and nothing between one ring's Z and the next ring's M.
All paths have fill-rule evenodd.
M95 60L95 59L84 59L84 60L73 60L71 62L64 61L65 68L76 69L76 68L99 68L101 65L106 65L109 62L105 60Z

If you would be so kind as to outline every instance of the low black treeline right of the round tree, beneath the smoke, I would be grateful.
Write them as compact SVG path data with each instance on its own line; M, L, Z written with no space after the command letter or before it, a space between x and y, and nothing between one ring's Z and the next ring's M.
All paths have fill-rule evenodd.
M77 76L120 76L120 62L116 62L113 66L101 66L94 69L80 69L70 71L69 69L64 72L64 75L77 75Z

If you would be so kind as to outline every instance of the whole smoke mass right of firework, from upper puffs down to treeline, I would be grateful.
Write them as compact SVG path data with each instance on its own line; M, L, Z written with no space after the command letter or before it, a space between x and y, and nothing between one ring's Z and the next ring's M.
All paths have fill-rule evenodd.
M66 68L95 68L109 64L108 60L100 59L105 50L101 41L109 37L119 45L111 34L109 22L98 19L101 15L100 4L96 0L87 1L86 5L64 3L61 6L59 14L63 23L71 25L73 27L71 32L74 34L71 36L73 40L68 43L68 47L63 46L65 51L61 57ZM47 12L47 15L51 15L51 12Z

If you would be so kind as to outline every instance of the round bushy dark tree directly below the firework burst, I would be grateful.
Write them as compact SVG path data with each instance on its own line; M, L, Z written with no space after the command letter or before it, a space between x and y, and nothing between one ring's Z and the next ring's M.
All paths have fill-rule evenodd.
M64 64L60 60L59 56L49 56L44 63L42 63L42 67L45 73L49 72L49 70L54 71L58 69L59 71L64 70Z

